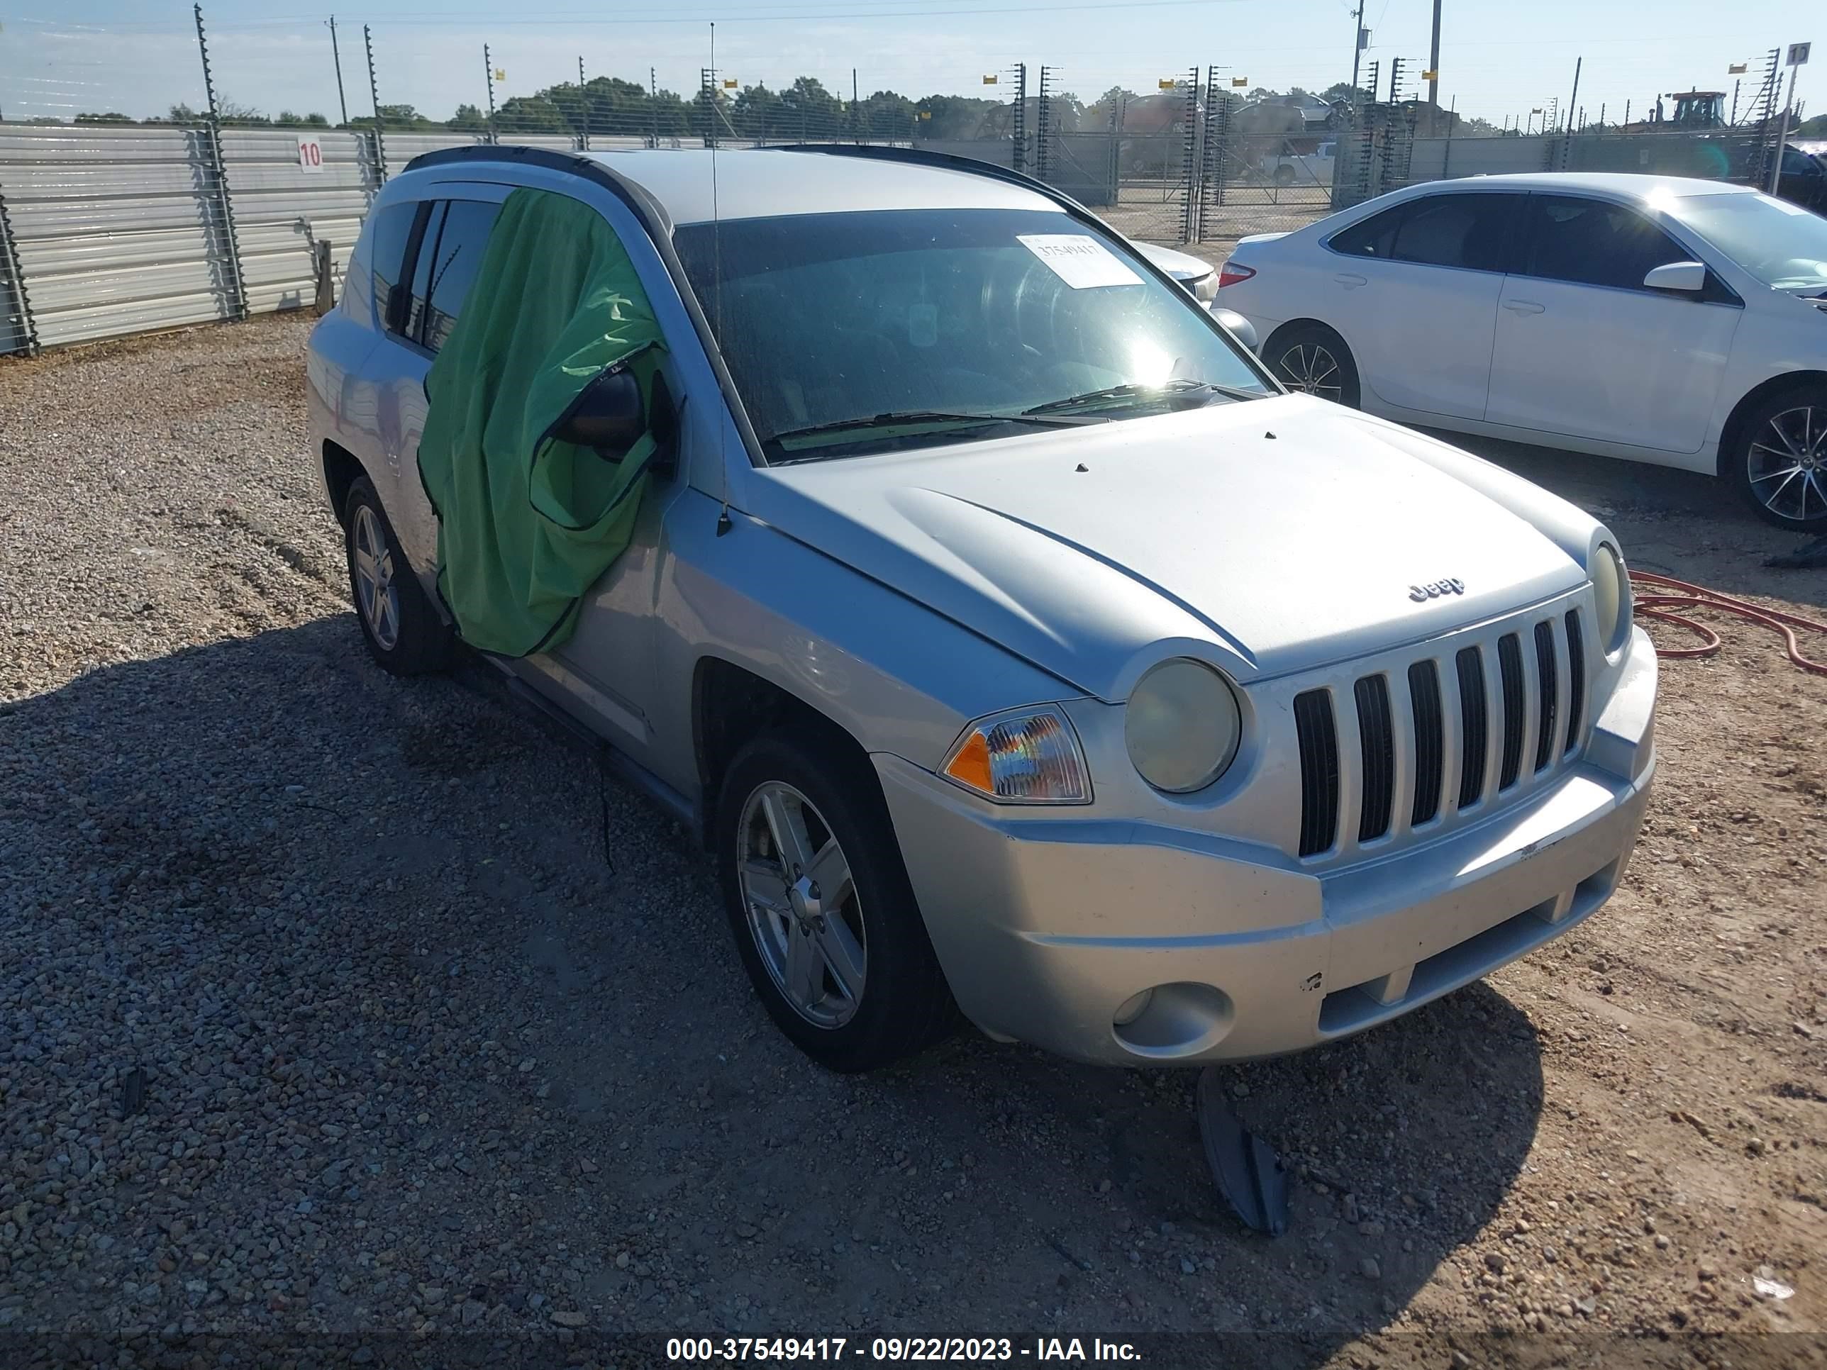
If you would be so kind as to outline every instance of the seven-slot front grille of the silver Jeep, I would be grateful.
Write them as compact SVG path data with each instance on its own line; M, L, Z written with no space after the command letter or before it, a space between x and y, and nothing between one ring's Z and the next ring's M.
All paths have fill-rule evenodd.
M1359 676L1343 703L1328 689L1295 696L1301 855L1337 846L1341 817L1367 844L1516 789L1579 747L1584 707L1577 608Z

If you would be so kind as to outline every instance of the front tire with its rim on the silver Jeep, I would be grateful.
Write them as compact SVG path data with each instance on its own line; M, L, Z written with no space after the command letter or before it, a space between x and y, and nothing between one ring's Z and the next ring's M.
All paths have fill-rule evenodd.
M818 1065L873 1070L957 1010L868 765L773 732L729 764L714 826L729 930L775 1025Z

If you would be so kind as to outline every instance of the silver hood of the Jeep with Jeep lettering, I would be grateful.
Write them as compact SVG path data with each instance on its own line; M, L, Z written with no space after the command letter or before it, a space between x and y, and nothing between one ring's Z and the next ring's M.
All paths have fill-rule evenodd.
M747 511L1102 700L1189 652L1239 681L1584 583L1591 519L1306 396L755 471ZM1436 455L1438 448L1442 455ZM1557 537L1513 484L1553 501ZM1579 552L1575 552L1579 548ZM1414 599L1414 586L1462 592Z

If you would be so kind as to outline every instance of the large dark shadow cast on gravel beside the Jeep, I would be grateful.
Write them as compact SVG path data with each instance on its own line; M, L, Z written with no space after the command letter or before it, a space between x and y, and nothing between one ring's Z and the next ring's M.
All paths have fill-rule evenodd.
M0 1253L44 1326L132 1275L153 1326L407 1330L455 1319L435 1286L502 1332L1222 1332L1310 1366L1493 1218L1542 1109L1484 985L1239 1067L1297 1176L1270 1240L1209 1182L1191 1074L961 1036L829 1076L674 824L464 681L382 676L349 616L0 709L0 1193L84 1200ZM135 1273L186 1244L256 1259Z

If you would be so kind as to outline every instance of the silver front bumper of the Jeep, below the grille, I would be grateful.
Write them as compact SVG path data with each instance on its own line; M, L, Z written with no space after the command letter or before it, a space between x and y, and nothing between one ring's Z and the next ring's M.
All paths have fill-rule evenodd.
M1436 842L1323 871L1206 831L1012 815L897 756L875 764L934 950L977 1027L1080 1061L1248 1059L1398 1017L1589 917L1648 804L1655 676L1633 630L1553 784Z

